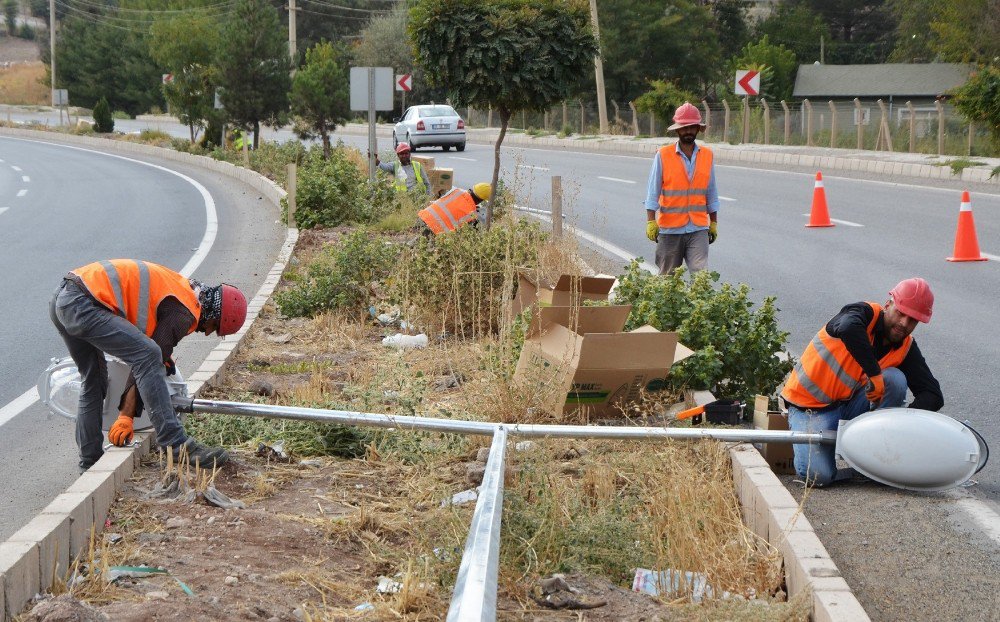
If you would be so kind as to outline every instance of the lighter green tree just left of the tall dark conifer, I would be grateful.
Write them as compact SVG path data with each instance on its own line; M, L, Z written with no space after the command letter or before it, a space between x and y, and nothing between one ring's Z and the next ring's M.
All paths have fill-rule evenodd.
M173 112L188 126L192 144L215 106L215 33L218 24L204 15L174 17L153 24L150 53L173 75L163 94Z

